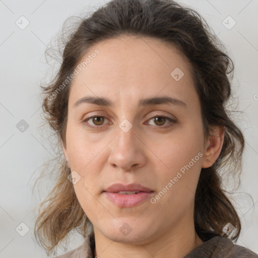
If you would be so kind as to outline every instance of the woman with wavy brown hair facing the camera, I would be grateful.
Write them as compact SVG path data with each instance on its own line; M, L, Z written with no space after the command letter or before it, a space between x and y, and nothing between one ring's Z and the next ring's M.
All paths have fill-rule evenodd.
M258 257L232 242L219 175L240 171L244 147L221 48L168 0L113 0L81 22L43 87L64 157L35 225L48 253L77 229L83 244L59 258Z

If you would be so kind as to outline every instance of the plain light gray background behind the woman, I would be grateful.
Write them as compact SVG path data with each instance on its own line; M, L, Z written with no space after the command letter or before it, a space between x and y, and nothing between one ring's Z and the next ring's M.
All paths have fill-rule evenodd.
M95 4L98 3L98 4ZM44 50L49 40L60 29L64 20L76 15L90 4L99 6L103 1L7 1L0 0L0 111L1 111L1 181L0 181L0 257L46 257L33 236L35 213L31 210L46 196L53 182L45 179L41 193L32 194L32 186L42 163L53 150L47 137L42 136L40 124L40 82L46 76ZM258 191L257 191L257 110L258 110L258 2L257 0L182 1L208 21L224 42L235 63L234 92L238 98L236 119L246 137L241 186L235 195L243 230L237 244L258 253ZM28 27L21 30L16 21L25 16ZM231 16L236 25L227 29L223 21ZM233 20L226 20L228 26ZM20 132L17 123L24 119L29 127ZM34 173L35 172L35 173ZM33 174L34 173L34 174ZM226 181L225 181L226 182ZM19 232L29 231L25 236ZM22 227L21 227L22 226ZM25 231L24 231L25 232ZM67 246L68 250L81 245L77 235ZM60 254L62 253L59 250Z

